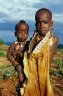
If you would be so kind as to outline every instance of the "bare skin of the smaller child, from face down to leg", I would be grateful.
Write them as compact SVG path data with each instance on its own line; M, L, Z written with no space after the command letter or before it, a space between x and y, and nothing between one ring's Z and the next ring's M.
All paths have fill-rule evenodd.
M8 56L9 61L16 68L20 82L23 82L24 75L23 75L22 64L20 62L20 60L22 61L22 59L20 58L23 58L23 50L24 50L24 46L28 38L28 26L25 23L21 23L18 30L16 30L16 32L17 32L16 38L17 38L18 43L17 44L13 43L9 47L7 56ZM20 44L22 45L21 47L20 47ZM15 56L16 58L18 58L18 60L14 58L15 56L13 56L13 50L15 50L14 54L16 53Z

